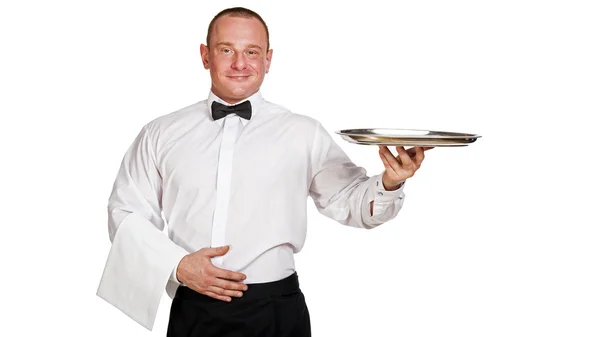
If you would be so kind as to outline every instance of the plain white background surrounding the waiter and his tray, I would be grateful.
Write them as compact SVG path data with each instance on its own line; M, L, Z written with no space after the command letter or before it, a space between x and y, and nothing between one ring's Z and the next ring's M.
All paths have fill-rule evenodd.
M2 2L0 335L165 335L166 294L152 332L95 295L106 204L142 125L206 98L199 45L234 5L271 31L264 97L332 134L483 136L427 152L375 230L308 200L314 336L600 335L600 12L531 0Z

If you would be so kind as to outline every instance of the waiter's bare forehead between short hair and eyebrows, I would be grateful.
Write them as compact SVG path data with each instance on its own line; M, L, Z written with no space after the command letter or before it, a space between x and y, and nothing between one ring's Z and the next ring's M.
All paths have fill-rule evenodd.
M267 31L256 18L240 18L225 15L215 21L211 43L256 44L266 48Z

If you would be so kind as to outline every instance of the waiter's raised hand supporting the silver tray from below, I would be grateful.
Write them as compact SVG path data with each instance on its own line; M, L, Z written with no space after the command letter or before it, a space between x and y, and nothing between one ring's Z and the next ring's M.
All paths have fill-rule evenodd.
M379 157L385 166L382 178L383 187L388 191L398 189L403 181L417 172L425 159L425 151L431 149L433 147L415 146L405 150L404 146L396 146L398 156L394 157L387 146L380 145Z

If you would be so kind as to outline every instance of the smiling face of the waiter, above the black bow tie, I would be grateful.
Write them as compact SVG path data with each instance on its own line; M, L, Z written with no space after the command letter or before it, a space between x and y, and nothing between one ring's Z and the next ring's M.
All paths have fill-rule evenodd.
M267 32L258 19L218 18L210 44L210 48L202 44L200 54L204 68L210 70L215 95L236 103L260 89L273 51L267 50Z

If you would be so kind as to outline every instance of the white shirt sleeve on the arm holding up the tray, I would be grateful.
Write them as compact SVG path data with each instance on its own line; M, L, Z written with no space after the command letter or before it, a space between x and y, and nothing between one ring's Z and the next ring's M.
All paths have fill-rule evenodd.
M383 173L367 176L319 122L311 149L311 176L309 195L317 210L343 225L375 228L396 217L404 202L405 184L394 191L385 190Z

